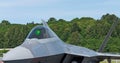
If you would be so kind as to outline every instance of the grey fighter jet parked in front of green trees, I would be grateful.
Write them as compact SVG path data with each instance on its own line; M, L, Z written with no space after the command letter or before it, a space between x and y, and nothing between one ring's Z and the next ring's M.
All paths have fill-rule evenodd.
M43 25L31 30L20 46L7 52L1 63L100 63L104 59L111 63L111 59L120 59L117 54L100 53L102 50L100 47L96 52L66 44L43 21Z

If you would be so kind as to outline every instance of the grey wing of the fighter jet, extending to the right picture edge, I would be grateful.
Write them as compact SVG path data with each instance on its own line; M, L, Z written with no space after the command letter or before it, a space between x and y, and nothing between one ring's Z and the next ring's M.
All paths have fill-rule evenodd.
M91 58L120 59L119 54L99 53L84 47L68 45L68 44L67 44L67 48L68 48L67 54L70 55L84 56Z

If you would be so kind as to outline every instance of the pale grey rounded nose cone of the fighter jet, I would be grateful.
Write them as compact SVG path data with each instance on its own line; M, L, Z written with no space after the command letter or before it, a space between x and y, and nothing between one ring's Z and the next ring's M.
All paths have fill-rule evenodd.
M30 52L30 50L28 50L27 48L18 46L10 50L9 52L7 52L3 56L2 60L8 61L8 60L21 60L21 59L29 59L29 58L33 58L33 55Z

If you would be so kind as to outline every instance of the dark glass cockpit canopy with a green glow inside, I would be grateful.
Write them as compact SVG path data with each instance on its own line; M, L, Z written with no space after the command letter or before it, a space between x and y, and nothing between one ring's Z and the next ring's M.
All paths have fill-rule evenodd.
M27 36L28 39L32 39L32 38L45 39L50 37L52 36L50 36L49 30L44 26L36 26Z

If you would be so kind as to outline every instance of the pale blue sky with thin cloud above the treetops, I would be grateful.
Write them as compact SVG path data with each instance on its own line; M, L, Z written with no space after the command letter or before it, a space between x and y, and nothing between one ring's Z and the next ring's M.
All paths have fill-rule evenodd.
M120 0L0 0L0 22L40 23L50 17L100 19L106 13L120 17Z

